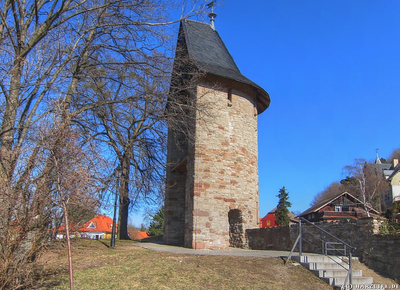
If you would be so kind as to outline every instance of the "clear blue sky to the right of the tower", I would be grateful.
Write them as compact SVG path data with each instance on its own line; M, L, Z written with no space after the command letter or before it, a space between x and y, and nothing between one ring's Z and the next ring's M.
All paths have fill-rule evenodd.
M215 12L240 71L271 98L258 116L260 216L283 185L302 211L354 158L400 146L400 1L225 0Z

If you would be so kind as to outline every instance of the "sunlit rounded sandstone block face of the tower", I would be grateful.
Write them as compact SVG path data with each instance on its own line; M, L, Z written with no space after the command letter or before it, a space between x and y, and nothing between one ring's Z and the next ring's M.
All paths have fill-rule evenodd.
M231 245L243 246L244 230L257 226L258 221L255 93L237 84L210 88L212 84L204 82L197 87L198 101L212 105L208 116L197 118L196 141L189 149L193 151L194 184L192 188L186 185L189 192L193 190L192 201L186 195L193 206L187 206L185 246L197 249L227 249L233 228L237 230L230 237L236 240ZM234 210L240 216L232 220L235 227L230 227L228 215L233 216Z

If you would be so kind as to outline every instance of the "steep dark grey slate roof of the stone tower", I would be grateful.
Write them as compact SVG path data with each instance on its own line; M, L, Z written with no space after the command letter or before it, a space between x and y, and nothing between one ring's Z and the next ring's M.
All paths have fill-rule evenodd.
M230 78L254 87L258 113L269 106L269 95L255 82L241 74L218 32L210 24L184 19L180 21L179 33L183 33L189 57L206 73Z

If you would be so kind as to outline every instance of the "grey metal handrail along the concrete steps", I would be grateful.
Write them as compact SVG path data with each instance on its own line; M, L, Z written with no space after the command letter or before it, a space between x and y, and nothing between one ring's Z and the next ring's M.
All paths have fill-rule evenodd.
M337 240L337 241L339 241L339 242L336 243L336 242L324 241L323 239L319 238L318 236L316 236L315 234L313 234L313 233L310 232L309 230L303 228L303 227L301 226L301 222L302 222L302 221L305 221L305 222L311 224L312 226L316 227L318 230L322 231L323 233L327 234L328 236L334 238L335 240ZM336 250L336 251L342 251L342 250L344 250L344 256L348 257L348 263L347 263L345 260L343 260L342 257L340 257L340 256L338 256L338 255L336 255L336 254L333 254L333 253L332 253L332 255L338 257L342 262L348 264L348 270L347 270L345 267L343 267L344 269L346 269L346 270L348 271L348 272L347 272L347 275L346 275L346 278L344 279L344 283L346 284L347 281L349 281L349 283L352 284L352 262L351 262L351 258L352 258L352 257L351 257L351 255L352 255L352 251L353 251L354 249L356 249L356 248L353 247L353 246L351 246L351 245L349 245L348 243L342 241L341 239L339 239L338 237L334 236L333 234L327 232L327 231L324 230L323 228L320 228L319 226L317 226L317 225L313 224L312 222L306 220L306 219L303 218L303 217L300 217L300 218L299 218L298 236L297 236L297 238L296 238L296 240L295 240L295 242L294 242L294 244L293 244L293 247L291 248L291 251L290 251L289 255L287 256L287 259L286 259L286 261L285 261L285 264L290 260L292 254L293 254L294 248L296 247L296 245L297 245L298 242L299 242L299 244L298 244L298 245L299 245L299 247L298 247L298 254L299 254L300 257L301 257L301 253L302 253L302 241L305 241L306 243L308 243L309 245L313 246L314 248L317 248L315 245L313 245L312 243L310 243L309 241L305 240L305 239L302 237L302 231L303 231L303 230L306 231L306 232L308 232L310 235L314 236L315 238L321 240L321 241L322 241L322 248L321 248L322 254L324 254L325 256L327 256L328 258L330 258L331 260L333 260L335 263L339 264L341 267L343 267L343 265L341 265L340 263L338 263L338 262L337 262L336 260L334 260L331 256L329 256L327 253L328 253L328 251L331 252L331 250ZM324 246L324 244L325 244L325 246ZM343 245L344 245L344 249L337 249L337 248L335 248L335 247L328 248L328 247L326 247L326 244L343 244ZM350 250L348 251L348 255L346 255L346 246L350 248Z

